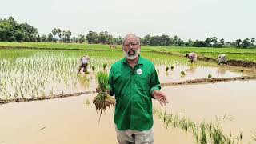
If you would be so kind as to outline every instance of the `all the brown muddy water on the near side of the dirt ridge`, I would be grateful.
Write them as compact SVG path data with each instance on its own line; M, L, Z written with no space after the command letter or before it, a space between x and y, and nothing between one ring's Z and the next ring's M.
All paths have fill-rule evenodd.
M193 86L162 87L169 100L162 107L168 113L179 114L194 122L214 122L222 119L226 134L238 135L243 143L250 141L250 130L256 129L256 81L222 82ZM117 143L114 130L114 109L98 114L92 104L94 95L58 98L41 102L20 102L0 106L0 142L9 144L42 143ZM90 102L89 105L86 101ZM154 107L159 106L154 101ZM155 143L194 143L194 137L182 130L167 129L154 117Z

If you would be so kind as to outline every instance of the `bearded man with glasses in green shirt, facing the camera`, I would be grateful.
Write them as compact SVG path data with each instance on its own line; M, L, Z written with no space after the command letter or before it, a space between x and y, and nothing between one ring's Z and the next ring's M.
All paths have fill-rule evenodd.
M110 70L110 95L116 99L114 122L120 144L153 143L152 98L162 106L168 103L153 63L142 58L140 50L139 38L126 35L122 42L125 58Z

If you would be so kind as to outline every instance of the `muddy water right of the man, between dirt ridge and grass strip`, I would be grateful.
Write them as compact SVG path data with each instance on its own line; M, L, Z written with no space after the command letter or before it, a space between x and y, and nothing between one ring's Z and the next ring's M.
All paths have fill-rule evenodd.
M250 130L256 130L255 87L256 81L166 86L162 91L168 95L170 105L163 109L194 122L216 122L217 117L226 135L231 132L237 136L242 131L242 143L247 143Z

